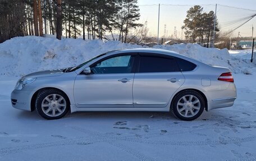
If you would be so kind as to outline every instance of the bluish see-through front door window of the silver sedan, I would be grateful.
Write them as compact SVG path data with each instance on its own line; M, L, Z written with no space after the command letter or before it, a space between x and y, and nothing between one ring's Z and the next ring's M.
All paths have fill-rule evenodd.
M130 73L134 57L132 56L117 56L105 59L91 67L94 74L100 73Z

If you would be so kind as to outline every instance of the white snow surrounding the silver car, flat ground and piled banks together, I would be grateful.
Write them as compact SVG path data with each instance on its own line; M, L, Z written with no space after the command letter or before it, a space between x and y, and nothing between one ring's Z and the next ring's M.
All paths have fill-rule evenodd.
M48 121L11 107L20 76L127 47L139 46L36 37L0 44L0 160L256 160L256 65L241 52L192 44L156 47L235 72L234 106L191 122L162 112L80 112Z

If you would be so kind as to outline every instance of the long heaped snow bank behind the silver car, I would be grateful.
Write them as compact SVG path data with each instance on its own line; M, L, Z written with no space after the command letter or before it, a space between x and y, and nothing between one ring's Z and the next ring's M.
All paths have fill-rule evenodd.
M17 37L0 44L0 75L23 76L75 66L108 50L139 47L116 41ZM157 45L153 48L173 50L209 65L229 67L236 73L250 74L250 68L255 67L249 59L230 56L227 49L209 49L197 44Z

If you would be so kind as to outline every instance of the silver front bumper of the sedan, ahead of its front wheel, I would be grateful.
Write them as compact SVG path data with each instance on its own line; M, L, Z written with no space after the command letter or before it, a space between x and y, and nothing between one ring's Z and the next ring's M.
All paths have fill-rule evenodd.
M12 107L31 111L31 98L35 91L13 90L11 93Z

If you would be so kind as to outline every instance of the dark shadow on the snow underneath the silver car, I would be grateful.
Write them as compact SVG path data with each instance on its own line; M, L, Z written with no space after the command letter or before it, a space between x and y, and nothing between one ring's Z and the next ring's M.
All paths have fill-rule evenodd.
M20 111L16 114L17 118L22 119L33 119L35 121L45 120L44 118L40 117L39 114L34 112L28 111ZM202 116L195 119L195 121L211 121L211 119L216 118L225 118L227 116L223 116L223 113L217 110L213 110L211 112L204 111ZM182 121L179 118L173 116L171 112L75 112L75 113L68 113L65 117L61 119L86 119L86 118L93 118L93 119L144 119L144 120L168 120L174 122L186 122Z

